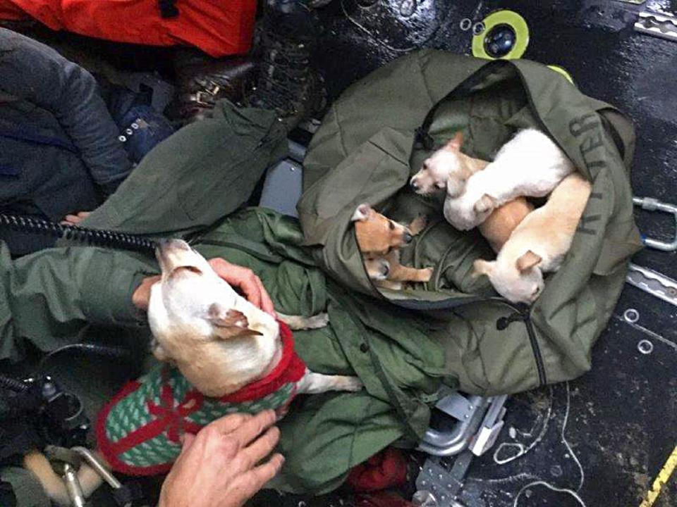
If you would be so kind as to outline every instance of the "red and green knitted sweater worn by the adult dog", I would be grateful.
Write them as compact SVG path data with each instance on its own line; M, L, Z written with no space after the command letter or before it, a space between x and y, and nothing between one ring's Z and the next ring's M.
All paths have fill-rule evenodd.
M221 398L203 396L177 368L159 365L129 382L104 406L97 421L99 450L114 470L128 475L168 472L184 432L197 433L231 413L267 409L283 415L305 374L291 330L280 323L282 358L266 377Z

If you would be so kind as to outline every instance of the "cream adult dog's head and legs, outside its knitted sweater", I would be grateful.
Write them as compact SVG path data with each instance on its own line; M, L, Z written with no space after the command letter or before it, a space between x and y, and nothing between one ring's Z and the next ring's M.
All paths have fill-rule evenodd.
M276 367L285 354L289 357L291 351L283 350L278 320L235 292L188 243L180 239L161 242L156 256L162 275L151 288L148 307L153 335L152 352L159 361L176 365L192 387L210 397L212 401L209 403L222 401L222 397L233 393L233 396L238 396L243 387L257 385L258 380L277 371ZM278 318L295 329L315 329L329 322L327 314L311 318L278 315ZM291 359L297 370L304 368L303 363L293 361L300 360ZM297 377L292 397L296 394L362 389L358 377L321 375L307 368L305 372L298 370ZM146 389L147 384L138 384L141 386L139 392ZM152 399L142 401L143 407ZM195 401L193 399L191 403ZM127 399L123 403L128 403ZM179 406L178 410L187 406ZM286 405L279 408L279 415L284 411ZM105 422L105 416L103 420ZM160 420L161 417L153 423ZM185 423L190 424L190 421ZM99 439L105 434L106 430L99 432ZM102 450L104 444L106 442L99 440ZM105 452L104 456L108 458ZM105 461L102 459L102 462ZM37 475L52 500L59 505L70 505L63 481L56 476L42 453L28 453L24 466ZM102 484L102 478L85 464L78 470L78 480L85 497Z

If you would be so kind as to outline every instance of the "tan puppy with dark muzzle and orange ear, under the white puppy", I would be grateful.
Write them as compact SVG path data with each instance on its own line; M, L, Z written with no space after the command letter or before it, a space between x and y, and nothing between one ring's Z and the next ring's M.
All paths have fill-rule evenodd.
M421 170L411 178L410 185L414 192L425 195L446 189L446 199L459 199L465 192L468 178L489 164L480 158L463 154L461 146L463 132L456 132L451 141L427 158ZM496 208L479 225L480 232L492 249L498 252L515 227L533 209L529 201L518 197Z

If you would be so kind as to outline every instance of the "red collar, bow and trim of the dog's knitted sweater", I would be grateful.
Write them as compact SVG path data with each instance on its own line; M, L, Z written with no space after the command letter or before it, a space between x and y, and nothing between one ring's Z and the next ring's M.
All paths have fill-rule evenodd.
M243 401L260 399L277 391L283 384L299 382L303 378L303 375L305 375L305 363L296 355L293 334L285 323L279 322L279 327L282 341L282 357L272 372L262 379L246 385L239 391L222 396L219 398L219 401L241 403ZM181 434L185 432L195 434L202 430L202 426L185 420L185 418L202 408L204 396L197 391L188 392L178 408L171 408L174 406L171 389L168 385L163 385L161 390L162 403L160 405L152 402L147 404L150 413L156 418L147 425L118 440L118 442L110 442L106 437L106 420L110 411L119 401L128 396L128 394L135 392L140 386L141 384L137 380L128 382L99 412L96 427L97 446L113 470L126 475L158 475L169 472L173 463L140 468L124 463L117 456L119 453L157 437L157 435L165 431L169 440L178 442ZM295 394L292 394L292 398L294 396ZM286 406L282 407L282 411L285 411L285 408Z

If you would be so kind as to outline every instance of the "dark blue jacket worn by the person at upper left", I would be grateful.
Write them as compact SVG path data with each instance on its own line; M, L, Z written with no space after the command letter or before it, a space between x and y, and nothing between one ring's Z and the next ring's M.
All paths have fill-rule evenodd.
M118 135L90 73L0 28L0 211L60 220L94 209L132 168ZM39 247L0 238L13 253Z

